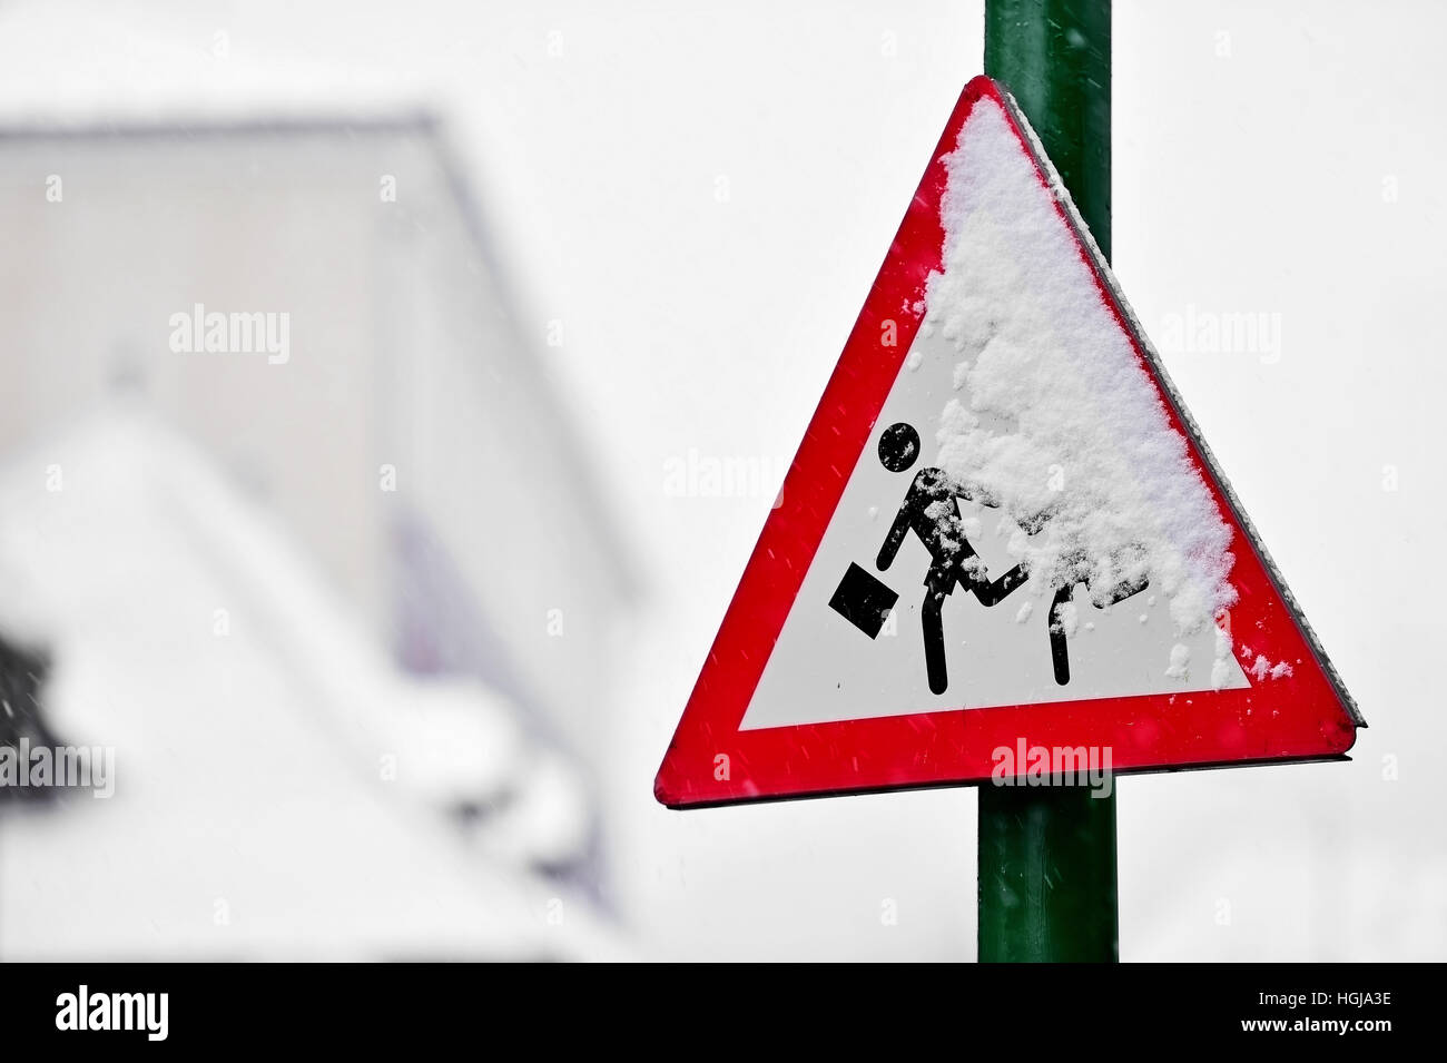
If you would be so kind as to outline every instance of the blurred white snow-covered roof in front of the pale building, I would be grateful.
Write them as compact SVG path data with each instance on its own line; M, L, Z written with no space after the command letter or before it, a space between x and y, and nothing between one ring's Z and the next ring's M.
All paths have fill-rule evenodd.
M114 749L113 797L0 817L0 956L619 955L530 871L586 843L570 769L486 687L399 674L149 415L4 460L0 580L0 628L54 658L55 732Z

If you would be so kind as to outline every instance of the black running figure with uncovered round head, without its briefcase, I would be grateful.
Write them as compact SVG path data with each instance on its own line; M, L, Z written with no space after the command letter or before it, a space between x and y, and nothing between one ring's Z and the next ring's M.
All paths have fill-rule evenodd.
M903 473L919 458L919 432L903 421L884 430L880 437L880 464L891 473ZM877 565L884 571L894 561L904 537L915 532L925 544L932 558L925 574L925 606L922 622L925 628L925 671L929 674L929 688L943 694L949 686L945 671L945 629L941 610L955 584L978 599L983 606L993 606L1026 580L1024 570L1014 565L998 580L985 579L984 561L975 554L965 538L965 524L959 516L958 499L971 495L951 480L942 469L920 469L910 483L909 493L890 526L884 545L880 547ZM983 505L997 505L990 499L978 499Z

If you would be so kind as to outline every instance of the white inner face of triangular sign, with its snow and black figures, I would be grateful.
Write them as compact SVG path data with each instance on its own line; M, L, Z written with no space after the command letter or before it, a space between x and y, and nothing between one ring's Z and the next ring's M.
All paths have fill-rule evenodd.
M741 729L1252 686L1214 623L1226 525L1185 438L978 107L948 159L945 272ZM1068 590L1062 542L1094 563ZM1133 577L1091 586L1117 555Z

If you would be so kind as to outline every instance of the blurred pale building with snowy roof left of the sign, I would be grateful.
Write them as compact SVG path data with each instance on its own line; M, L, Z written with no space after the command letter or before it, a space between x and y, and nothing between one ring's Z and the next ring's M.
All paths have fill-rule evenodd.
M3 132L0 227L0 633L117 756L110 801L0 820L0 955L46 952L35 905L120 955L606 940L632 584L438 127Z

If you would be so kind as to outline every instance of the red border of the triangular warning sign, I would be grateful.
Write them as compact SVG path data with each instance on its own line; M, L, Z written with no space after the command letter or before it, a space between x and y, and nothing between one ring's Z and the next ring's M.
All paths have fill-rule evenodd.
M1062 217L1077 233L1081 257L1097 278L1101 298L1130 336L1142 364L1160 389L1174 427L1189 441L1192 458L1234 528L1231 583L1240 602L1229 620L1237 652L1244 646L1253 657L1259 652L1272 661L1288 661L1294 674L1249 690L738 729L815 551L915 341L922 320L915 308L923 307L925 281L942 268L943 156L954 150L969 111L983 98L1004 108L1035 159L1040 181L1059 187L1010 95L984 77L965 85L809 422L784 480L783 503L764 524L683 710L654 782L654 794L663 804L696 807L981 782L996 767L991 752L1000 746L1013 749L1020 739L1045 746L1110 746L1117 774L1327 759L1350 749L1356 727L1365 726L1201 443L1084 223L1068 200L1058 200ZM897 323L897 346L880 346L886 318ZM1249 662L1243 661L1243 667Z

